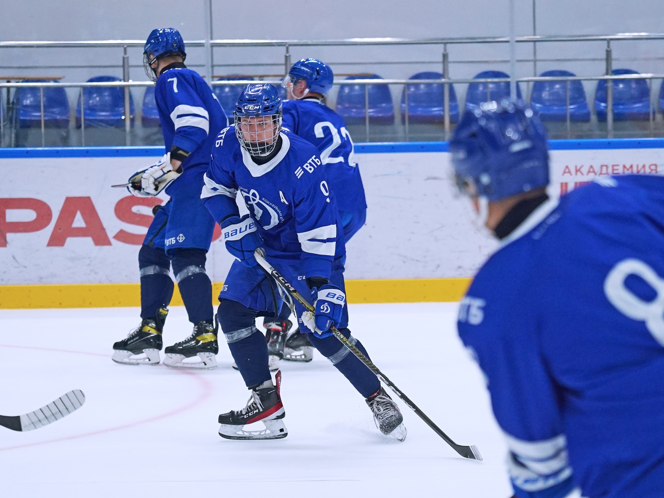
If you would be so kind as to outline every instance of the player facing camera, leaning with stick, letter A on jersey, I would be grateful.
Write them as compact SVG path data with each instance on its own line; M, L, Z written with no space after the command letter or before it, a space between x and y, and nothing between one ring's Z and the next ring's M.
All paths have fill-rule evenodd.
M240 216L240 193L250 214ZM314 145L282 129L282 100L272 84L247 85L212 149L201 193L222 228L233 262L219 295L217 315L226 342L252 395L246 408L219 416L219 434L230 439L285 437L280 378L268 368L268 345L256 329L258 316L279 313L282 298L276 282L254 258L262 248L270 264L303 295L315 302L315 315L296 305L300 331L365 397L376 426L405 438L402 414L378 378L331 335L335 325L351 338L345 302L345 245L335 195ZM366 353L365 353L366 354ZM243 430L262 421L266 431Z

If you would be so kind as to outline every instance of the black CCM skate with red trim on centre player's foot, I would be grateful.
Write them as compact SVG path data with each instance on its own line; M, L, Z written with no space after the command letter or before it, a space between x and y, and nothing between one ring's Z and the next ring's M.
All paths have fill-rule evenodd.
M219 416L219 436L226 439L281 439L288 436L284 425L284 404L280 395L282 373L276 374L277 386L272 380L252 389L251 398L242 410L232 410ZM269 384L265 386L265 384ZM263 422L264 429L245 430L244 426Z

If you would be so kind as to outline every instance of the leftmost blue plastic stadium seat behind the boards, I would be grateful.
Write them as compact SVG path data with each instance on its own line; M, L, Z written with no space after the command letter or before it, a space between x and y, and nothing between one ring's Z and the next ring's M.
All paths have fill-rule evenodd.
M35 81L35 80L31 80ZM53 82L54 80L41 80ZM14 112L21 128L41 126L39 88L19 88L14 93ZM66 128L69 126L69 100L64 88L44 88L44 125Z

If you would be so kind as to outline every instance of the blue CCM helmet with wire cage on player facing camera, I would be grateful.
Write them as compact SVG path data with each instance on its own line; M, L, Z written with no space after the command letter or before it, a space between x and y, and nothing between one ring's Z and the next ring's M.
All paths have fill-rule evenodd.
M244 87L233 113L235 135L250 155L268 155L282 131L282 98L272 83Z

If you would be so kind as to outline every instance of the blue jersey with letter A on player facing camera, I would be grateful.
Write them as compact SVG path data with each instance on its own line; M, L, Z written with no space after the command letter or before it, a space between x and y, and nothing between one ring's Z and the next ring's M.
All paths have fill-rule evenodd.
M307 277L330 277L331 262L345 254L335 196L316 147L282 129L282 148L257 165L241 146L235 126L223 129L212 149L201 199L220 222L239 214L240 191L271 258L303 264Z

